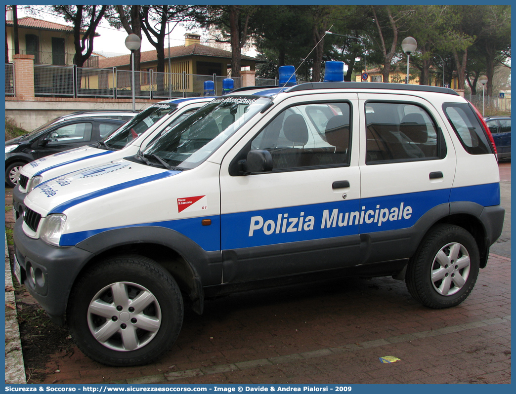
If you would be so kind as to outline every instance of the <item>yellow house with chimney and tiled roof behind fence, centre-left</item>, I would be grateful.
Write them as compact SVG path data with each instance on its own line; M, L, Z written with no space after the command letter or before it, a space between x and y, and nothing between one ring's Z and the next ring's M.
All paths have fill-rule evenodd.
M219 48L201 44L201 36L196 34L185 34L185 45L170 47L170 65L172 73L197 75L227 76L228 68L231 67L231 52ZM164 49L165 72L168 70L169 48ZM249 67L255 70L256 62L260 60L251 56L241 57L241 67ZM111 69L116 67L120 70L131 69L131 55L103 58L99 61L100 68ZM140 70L156 71L157 54L156 51L146 51L141 53Z

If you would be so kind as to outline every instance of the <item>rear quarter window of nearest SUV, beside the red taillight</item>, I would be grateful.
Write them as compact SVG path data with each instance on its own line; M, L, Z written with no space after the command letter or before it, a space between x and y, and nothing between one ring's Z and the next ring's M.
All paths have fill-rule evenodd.
M493 153L485 130L468 104L445 103L443 111L467 153L471 155Z

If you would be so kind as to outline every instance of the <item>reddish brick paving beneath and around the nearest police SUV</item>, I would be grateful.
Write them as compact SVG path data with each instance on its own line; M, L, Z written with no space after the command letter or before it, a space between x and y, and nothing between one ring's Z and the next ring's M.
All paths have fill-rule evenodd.
M44 383L510 383L510 319L510 259L491 255L455 308L423 307L392 278L247 292L187 312L153 365L105 367L75 349Z

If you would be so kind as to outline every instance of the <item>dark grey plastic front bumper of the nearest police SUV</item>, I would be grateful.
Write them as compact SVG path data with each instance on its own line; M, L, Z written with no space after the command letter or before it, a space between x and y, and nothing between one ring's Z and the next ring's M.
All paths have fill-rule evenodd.
M93 254L76 247L54 247L41 239L27 237L22 223L23 219L19 219L14 225L14 253L21 266L23 283L52 320L62 323L75 278Z

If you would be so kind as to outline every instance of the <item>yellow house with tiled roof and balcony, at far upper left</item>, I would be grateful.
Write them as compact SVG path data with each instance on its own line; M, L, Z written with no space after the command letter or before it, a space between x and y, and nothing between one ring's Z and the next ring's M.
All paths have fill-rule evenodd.
M14 23L12 10L5 21L9 62L14 55ZM82 30L84 31L84 30ZM99 34L95 34L99 37ZM73 26L32 17L18 19L20 54L34 55L35 64L72 65L75 54ZM85 67L88 65L85 64ZM90 57L89 67L98 67L98 58Z

